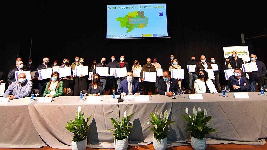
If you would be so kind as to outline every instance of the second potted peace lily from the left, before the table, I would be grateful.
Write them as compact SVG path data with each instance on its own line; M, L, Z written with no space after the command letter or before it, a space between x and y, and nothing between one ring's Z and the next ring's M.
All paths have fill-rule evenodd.
M112 122L112 125L114 127L114 130L108 129L113 132L114 135L114 148L116 150L126 150L128 148L128 135L130 135L129 128L134 128L133 122L130 122L130 118L133 115L133 113L126 116L126 112L124 112L124 116L122 117L122 120L116 120L114 118L110 117L110 121ZM119 118L120 119L120 118ZM128 123L131 123L131 125L128 125Z

